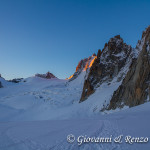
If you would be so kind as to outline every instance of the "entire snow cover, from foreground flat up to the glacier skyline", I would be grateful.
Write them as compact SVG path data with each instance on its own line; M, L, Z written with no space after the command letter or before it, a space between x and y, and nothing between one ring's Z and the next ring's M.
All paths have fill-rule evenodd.
M82 78L82 73L80 76ZM89 97L91 100L79 103L82 92L80 77L78 84L73 83L75 80L68 82L39 77L30 77L25 81L7 85L0 90L0 149L149 150L149 143L85 143L79 146L76 140L80 135L150 138L150 103L133 109L117 110L113 114L112 111L99 112L97 107L102 104L97 93L101 92L101 98L107 100L107 92L113 92L117 85L108 87L103 84L99 91ZM67 142L69 134L76 137L72 144Z

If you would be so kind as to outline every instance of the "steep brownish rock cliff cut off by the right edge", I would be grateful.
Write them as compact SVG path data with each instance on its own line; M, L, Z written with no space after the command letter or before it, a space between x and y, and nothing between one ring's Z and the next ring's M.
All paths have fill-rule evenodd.
M150 96L150 26L142 34L136 48L141 48L137 59L132 62L122 84L114 92L108 109L133 107L149 101Z

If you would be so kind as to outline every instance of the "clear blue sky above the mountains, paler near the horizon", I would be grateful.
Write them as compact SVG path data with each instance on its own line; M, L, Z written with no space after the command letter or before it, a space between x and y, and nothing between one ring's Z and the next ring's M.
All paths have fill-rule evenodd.
M135 47L148 25L150 0L0 0L0 73L66 78L117 34Z

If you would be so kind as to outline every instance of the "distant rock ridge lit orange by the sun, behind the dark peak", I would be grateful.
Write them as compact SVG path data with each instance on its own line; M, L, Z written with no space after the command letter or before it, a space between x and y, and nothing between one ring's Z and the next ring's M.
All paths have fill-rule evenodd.
M92 67L96 58L97 56L93 54L89 58L82 59L78 63L75 73L68 78L69 81L76 79L80 75L81 72L86 72L86 76L87 76L89 69Z

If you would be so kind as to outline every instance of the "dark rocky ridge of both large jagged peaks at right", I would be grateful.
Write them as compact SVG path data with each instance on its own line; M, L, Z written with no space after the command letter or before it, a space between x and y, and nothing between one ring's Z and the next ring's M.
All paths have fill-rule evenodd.
M150 79L149 79L150 73L148 71L150 69L150 66L149 66L150 45L149 43L150 43L150 26L146 28L145 31L143 31L142 38L141 40L138 41L136 48L132 48L130 45L127 45L126 43L124 43L120 35L117 35L111 38L108 41L108 43L105 44L103 50L98 51L97 59L94 61L92 67L90 68L88 77L84 82L80 102L87 100L92 94L95 93L97 88L100 87L104 82L108 83L108 85L111 84L111 81L115 77L118 78L117 82L121 82L121 85L116 90L114 90L113 95L110 99L110 103L105 104L103 108L101 108L102 111L107 110L107 109L108 110L116 109L118 107L123 108L124 106L132 107L132 106L142 104L146 101L149 101L147 97L148 95L150 95L149 94L150 88L149 88L149 85L146 83L146 81L148 83L150 82ZM123 53L125 55L123 55ZM142 60L145 56L146 58ZM133 75L133 72L134 72L133 70L134 68L139 68L137 67L137 64L140 61L142 61L141 68L139 69L138 73L136 72ZM145 66L143 66L142 63ZM123 74L120 77L118 77L122 69L125 69L125 70ZM145 71L143 72L142 69L144 69ZM137 88L136 86L132 87L130 85L132 81L129 80L129 78L131 78L131 76L137 76L137 74L141 72L143 72L144 77L143 79L142 77L138 79L139 84L140 84L140 80L143 81L145 79L146 81L145 80L143 81L142 86L140 88ZM126 84L129 84L130 86L127 86ZM144 91L144 90L147 90L147 92L143 94L143 96L141 96L142 95L141 91ZM130 91L133 91L134 93L134 94L131 94L132 98L131 97L129 98ZM128 96L125 98L125 96L122 96L122 95L126 92L128 94L125 94L125 95L128 95ZM101 95L99 95L99 97L101 97ZM137 97L140 97L142 100L140 100L140 98L137 98Z

